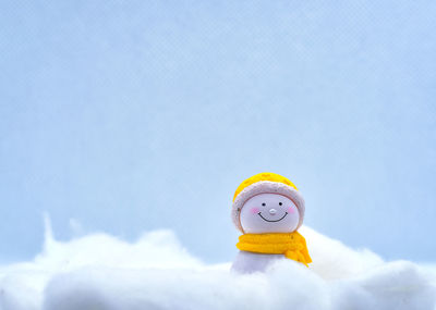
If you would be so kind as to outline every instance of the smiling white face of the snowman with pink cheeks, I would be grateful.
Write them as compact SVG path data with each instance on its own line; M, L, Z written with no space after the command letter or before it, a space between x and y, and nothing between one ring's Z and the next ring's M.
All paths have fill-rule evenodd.
M241 226L245 234L292 233L300 213L291 199L279 194L259 194L241 210Z

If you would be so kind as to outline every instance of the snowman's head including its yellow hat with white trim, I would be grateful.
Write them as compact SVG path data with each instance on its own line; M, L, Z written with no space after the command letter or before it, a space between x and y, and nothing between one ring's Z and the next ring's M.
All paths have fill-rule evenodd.
M288 178L259 173L234 193L232 219L244 234L291 233L303 224L304 200Z

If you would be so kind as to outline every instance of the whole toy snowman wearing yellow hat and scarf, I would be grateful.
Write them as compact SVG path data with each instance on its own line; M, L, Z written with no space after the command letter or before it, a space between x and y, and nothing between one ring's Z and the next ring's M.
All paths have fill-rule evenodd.
M304 219L304 199L295 185L275 173L245 179L233 196L231 216L243 235L232 270L265 271L279 259L312 262L306 241L296 230Z

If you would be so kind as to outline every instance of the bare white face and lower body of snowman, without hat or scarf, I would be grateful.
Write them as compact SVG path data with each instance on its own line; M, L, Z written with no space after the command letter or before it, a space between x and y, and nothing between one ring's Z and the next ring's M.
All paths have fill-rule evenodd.
M244 234L292 233L300 222L300 212L295 203L280 194L258 194L253 196L240 210L240 223ZM232 270L239 273L252 273L267 270L283 255L266 255L239 251Z

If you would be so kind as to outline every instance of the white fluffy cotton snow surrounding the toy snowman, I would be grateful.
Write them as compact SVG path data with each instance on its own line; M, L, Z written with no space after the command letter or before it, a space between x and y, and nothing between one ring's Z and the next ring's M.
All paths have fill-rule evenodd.
M310 269L286 260L265 274L238 275L230 262L192 257L171 231L130 244L106 234L61 243L47 230L34 261L0 266L0 309L435 309L434 269L300 232Z

